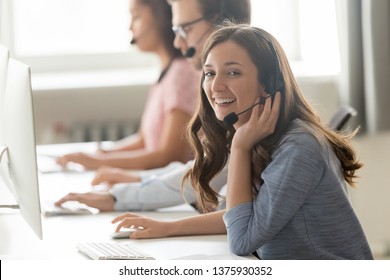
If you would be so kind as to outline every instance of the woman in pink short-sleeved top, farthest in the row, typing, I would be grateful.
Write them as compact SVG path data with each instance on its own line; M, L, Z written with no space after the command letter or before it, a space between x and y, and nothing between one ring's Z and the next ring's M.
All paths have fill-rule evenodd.
M171 7L166 1L130 0L132 44L155 53L161 75L149 92L141 126L135 135L109 151L72 153L58 158L86 169L111 166L124 169L151 169L170 162L187 162L191 148L184 131L197 106L200 73L173 47ZM113 108L115 109L115 108Z

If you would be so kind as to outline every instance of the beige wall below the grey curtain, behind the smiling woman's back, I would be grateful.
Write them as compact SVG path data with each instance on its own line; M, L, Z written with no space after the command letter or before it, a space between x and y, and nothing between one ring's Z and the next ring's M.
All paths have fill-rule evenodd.
M375 255L390 257L390 131L355 139L364 163L358 187L351 190L357 215Z

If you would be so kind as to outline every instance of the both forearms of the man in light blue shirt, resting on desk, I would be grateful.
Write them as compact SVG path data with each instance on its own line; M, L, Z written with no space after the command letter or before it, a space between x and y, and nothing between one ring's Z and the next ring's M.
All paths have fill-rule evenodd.
M189 164L189 165L188 165ZM149 172L140 172L140 176L127 174L126 171L116 168L108 168L107 174L97 174L106 183L126 182L111 186L111 191L69 193L59 199L55 205L61 206L67 201L78 201L100 211L126 211L126 210L155 210L160 207L175 206L184 203L181 195L181 173L185 172L187 165L172 163L165 168ZM182 169L184 168L184 169ZM105 172L103 169L101 170ZM145 173L145 175L142 175ZM160 178L161 174L169 174L168 179ZM170 178L170 179L169 179ZM96 183L92 181L92 184ZM131 181L134 182L131 182ZM141 181L141 182L139 182ZM177 182L177 184L175 184ZM177 185L173 188L170 185Z

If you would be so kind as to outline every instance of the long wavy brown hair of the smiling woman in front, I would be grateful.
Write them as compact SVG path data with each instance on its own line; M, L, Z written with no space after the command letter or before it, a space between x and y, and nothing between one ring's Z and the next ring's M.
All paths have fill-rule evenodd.
M321 123L317 113L302 95L280 44L271 34L260 28L245 24L221 26L206 42L202 64L216 45L226 41L233 41L248 52L257 67L258 81L262 85L274 79L277 71L276 63L279 63L280 76L284 84L275 132L258 142L252 151L251 176L254 194L263 183L261 173L270 163L272 153L294 119L302 120L320 143L328 143L332 147L340 160L345 180L349 185L354 186L355 171L363 165L356 159L355 151L349 141L357 130L342 134L332 131ZM274 52L269 42L273 45ZM275 59L274 53L278 59ZM201 84L204 78L202 74ZM190 180L198 196L198 208L203 212L211 211L219 202L219 195L210 187L210 181L227 164L234 132L233 127L226 127L216 118L206 93L200 86L200 103L188 127L188 137L195 151L195 162L194 167L184 176L183 183Z

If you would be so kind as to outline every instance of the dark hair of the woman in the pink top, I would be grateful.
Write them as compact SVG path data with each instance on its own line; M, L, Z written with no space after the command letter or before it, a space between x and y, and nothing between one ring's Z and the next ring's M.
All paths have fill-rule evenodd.
M171 6L164 0L138 0L140 4L147 5L151 8L156 19L157 28L161 40L164 42L166 50L172 58L182 56L179 49L173 46L175 33L172 31L172 9Z

